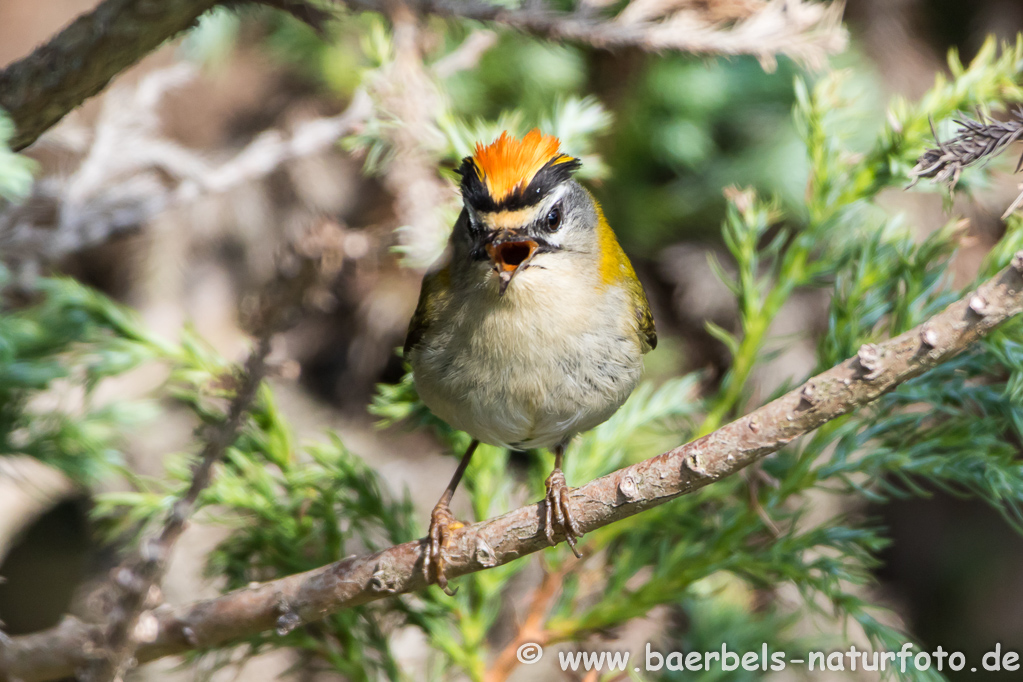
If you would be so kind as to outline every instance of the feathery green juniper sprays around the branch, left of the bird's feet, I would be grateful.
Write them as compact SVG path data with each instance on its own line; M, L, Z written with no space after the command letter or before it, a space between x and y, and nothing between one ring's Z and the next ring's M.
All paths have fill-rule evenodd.
M228 530L207 574L224 589L309 571L416 537L411 503L393 499L376 474L336 435L295 444L269 390L261 392L241 438L218 467L201 504L207 522ZM190 482L186 457L168 466L169 483L101 496L97 515L110 532L160 520ZM280 605L281 616L287 604ZM388 633L404 622L401 604L345 610L304 628L278 627L251 637L247 654L291 646L351 680L402 679ZM225 663L226 660L220 663Z

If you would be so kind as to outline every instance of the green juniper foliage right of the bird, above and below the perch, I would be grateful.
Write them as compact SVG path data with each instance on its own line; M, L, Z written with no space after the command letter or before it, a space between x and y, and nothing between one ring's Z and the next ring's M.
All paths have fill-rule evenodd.
M850 113L855 107L845 94L847 76L835 74L812 88L797 81L796 128L809 158L805 209L788 212L785 201L761 200L752 190L728 195L723 237L737 274L726 277L722 268L718 271L738 299L741 324L736 332L712 329L732 354L728 373L702 401L693 397L692 378L669 381L658 392L641 388L613 419L573 444L567 454L569 480L589 480L656 452L646 445L632 449L649 438L647 429L637 428L641 424L667 420L672 444L677 444L745 411L753 371L769 355L768 329L797 289L824 289L832 295L829 327L818 340L820 369L855 354L861 344L919 324L958 299L962 291L944 274L955 247L955 226L918 241L876 199L883 189L907 184L907 171L928 141L922 131L928 130L929 117L1020 98L1015 86L1019 49L1009 47L999 55L993 44L985 46L969 69L953 64L957 81L939 79L919 104L896 103L865 153L846 146L870 140L856 126L873 125ZM1009 245L995 249L985 272L1008 261L1020 240L1018 228L1014 221L1006 236ZM750 650L768 642L794 656L810 644L787 627L792 612L773 609L754 617L748 603L760 590L791 584L802 596L804 612L837 615L876 649L897 648L906 634L887 624L890 619L866 600L862 589L886 544L883 529L837 511L808 522L811 501L840 509L848 508L840 500L850 496L883 501L944 490L983 499L1019 527L1023 469L1015 460L1023 421L1016 399L1023 383L1017 378L1019 347L1012 340L1019 326L1008 325L871 408L826 424L746 476L589 534L584 546L602 578L595 590L591 583L587 589L582 579L587 569L568 572L544 624L549 640L581 642L655 606L673 604L690 619L673 648L703 650L727 643L732 650ZM392 417L416 413L421 408L405 402L410 398L406 383L400 395L383 397L377 409ZM549 460L533 458L533 490L538 491L548 469ZM472 494L485 494L488 482L472 481ZM489 485L497 484L507 485L499 478ZM829 498L835 502L826 502ZM548 550L548 570L563 565L566 557L564 549ZM604 557L614 558L605 562ZM461 589L478 593L483 576L488 574L462 579ZM505 589L521 588L508 584ZM746 605L737 607L737 601ZM491 600L476 603L481 611L493 608ZM757 646L749 645L744 629L728 627L728 613L737 609L753 619L746 623L757 633ZM468 633L461 636L463 643L470 640ZM822 638L813 647L843 644ZM473 665L464 667L471 677L479 675ZM690 673L685 679L744 675L749 673L711 671ZM935 673L910 670L906 675L929 679Z

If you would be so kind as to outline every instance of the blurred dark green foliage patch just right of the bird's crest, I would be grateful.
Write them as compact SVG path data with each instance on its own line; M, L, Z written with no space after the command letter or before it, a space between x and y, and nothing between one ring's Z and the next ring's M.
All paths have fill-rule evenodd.
M805 152L789 115L796 73L788 61L765 75L753 58L671 55L631 79L609 145L614 174L599 192L626 247L713 238L728 185L802 204Z

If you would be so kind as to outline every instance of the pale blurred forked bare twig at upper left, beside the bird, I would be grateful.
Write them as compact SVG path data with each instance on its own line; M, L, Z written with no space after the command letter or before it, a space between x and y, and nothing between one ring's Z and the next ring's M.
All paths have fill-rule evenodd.
M136 87L112 89L75 172L37 182L26 201L0 211L4 263L31 277L43 265L135 232L168 209L323 153L372 112L368 95L358 90L343 112L300 123L286 133L266 131L215 163L166 139L160 130L157 107L164 95L194 76L191 66L175 64L149 74ZM74 143L80 136L50 141L64 144L65 137Z

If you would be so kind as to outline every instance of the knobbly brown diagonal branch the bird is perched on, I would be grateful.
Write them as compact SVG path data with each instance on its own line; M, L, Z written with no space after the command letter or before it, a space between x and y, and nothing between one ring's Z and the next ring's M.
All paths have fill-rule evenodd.
M1023 252L975 291L924 324L881 344L714 433L573 491L583 531L692 493L731 475L825 422L866 405L962 353L998 324L1023 312ZM455 531L449 575L507 563L547 546L542 503ZM214 599L151 611L151 630L136 655L150 661L210 648L279 628L290 630L389 595L426 588L422 541L353 556ZM0 680L39 682L64 677L86 660L97 626L74 619L0 643Z

